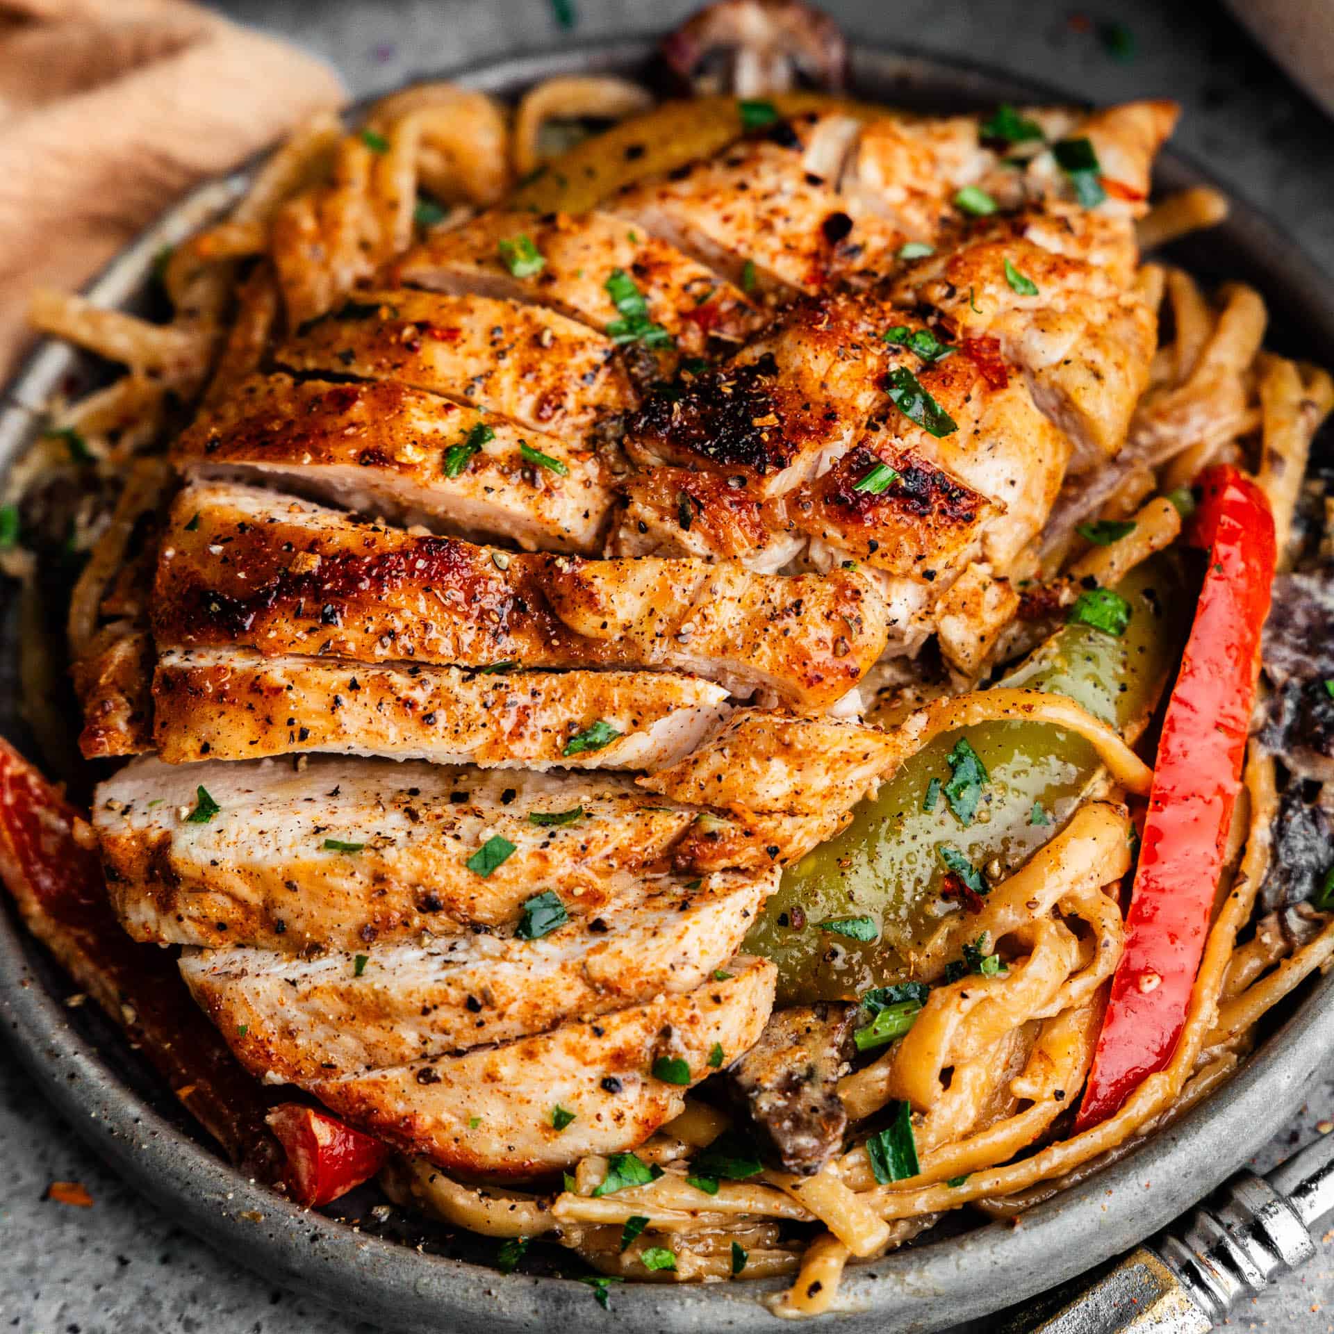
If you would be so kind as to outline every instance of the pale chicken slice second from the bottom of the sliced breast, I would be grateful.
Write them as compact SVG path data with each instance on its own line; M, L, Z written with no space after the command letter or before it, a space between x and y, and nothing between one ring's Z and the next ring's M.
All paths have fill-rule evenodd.
M776 887L776 870L690 884L652 879L602 916L535 940L460 935L313 958L204 950L187 951L180 967L217 1027L237 1035L232 1045L247 1066L301 1082L692 991L736 952Z

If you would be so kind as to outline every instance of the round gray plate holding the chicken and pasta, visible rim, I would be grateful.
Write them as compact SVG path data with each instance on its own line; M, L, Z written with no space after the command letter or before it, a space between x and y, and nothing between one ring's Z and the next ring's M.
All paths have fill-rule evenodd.
M640 43L522 57L452 75L514 92L575 71L638 72ZM920 109L986 107L1051 97L971 68L911 55L859 49L854 84L864 96ZM1202 180L1165 155L1158 184ZM92 287L101 304L132 305L153 256L208 223L241 192L244 175L211 184L168 213ZM1238 203L1226 225L1191 239L1175 256L1203 275L1259 287L1279 347L1334 364L1334 288L1254 209ZM1299 338L1285 331L1299 331ZM0 408L0 466L29 443L35 410L79 367L67 348L44 346ZM8 640L13 639L13 616ZM13 654L0 655L11 688L0 692L0 730L25 740L13 703ZM92 1007L69 1010L69 984L45 954L0 911L0 1015L35 1082L71 1126L172 1218L269 1278L398 1331L574 1329L606 1323L626 1334L774 1329L758 1302L776 1282L703 1287L618 1286L612 1315L588 1287L558 1277L502 1277L476 1263L494 1243L440 1234L426 1247L321 1214L303 1213L221 1162L193 1133L169 1094ZM1089 1269L1143 1239L1193 1205L1254 1154L1302 1102L1334 1046L1334 976L1302 992L1241 1073L1170 1131L1083 1186L1030 1210L1023 1226L959 1231L854 1267L842 1290L840 1327L928 1331L986 1315ZM951 1223L962 1223L954 1218ZM416 1239L416 1238L414 1238ZM552 1270L555 1273L555 1269ZM567 1263L566 1273L572 1270ZM830 1323L835 1317L824 1318Z

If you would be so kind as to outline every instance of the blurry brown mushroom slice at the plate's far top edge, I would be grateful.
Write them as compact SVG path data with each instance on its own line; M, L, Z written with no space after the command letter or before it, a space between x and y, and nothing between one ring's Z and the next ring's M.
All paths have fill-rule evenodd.
M720 0L687 19L660 49L696 93L763 97L799 83L836 92L847 77L839 25L798 0Z

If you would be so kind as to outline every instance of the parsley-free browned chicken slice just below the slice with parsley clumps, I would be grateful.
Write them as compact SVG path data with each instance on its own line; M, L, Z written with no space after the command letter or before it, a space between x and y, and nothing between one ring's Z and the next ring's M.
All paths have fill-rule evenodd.
M273 355L293 371L394 380L566 436L630 407L614 351L538 305L404 288L359 292Z

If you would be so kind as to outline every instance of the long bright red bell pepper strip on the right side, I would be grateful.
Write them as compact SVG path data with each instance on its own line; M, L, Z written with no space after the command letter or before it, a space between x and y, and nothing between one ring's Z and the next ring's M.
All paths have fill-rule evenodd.
M1075 1131L1114 1115L1171 1061L1205 950L1259 675L1274 580L1274 519L1234 467L1199 478L1190 531L1209 567L1163 716L1126 948L1111 979Z

